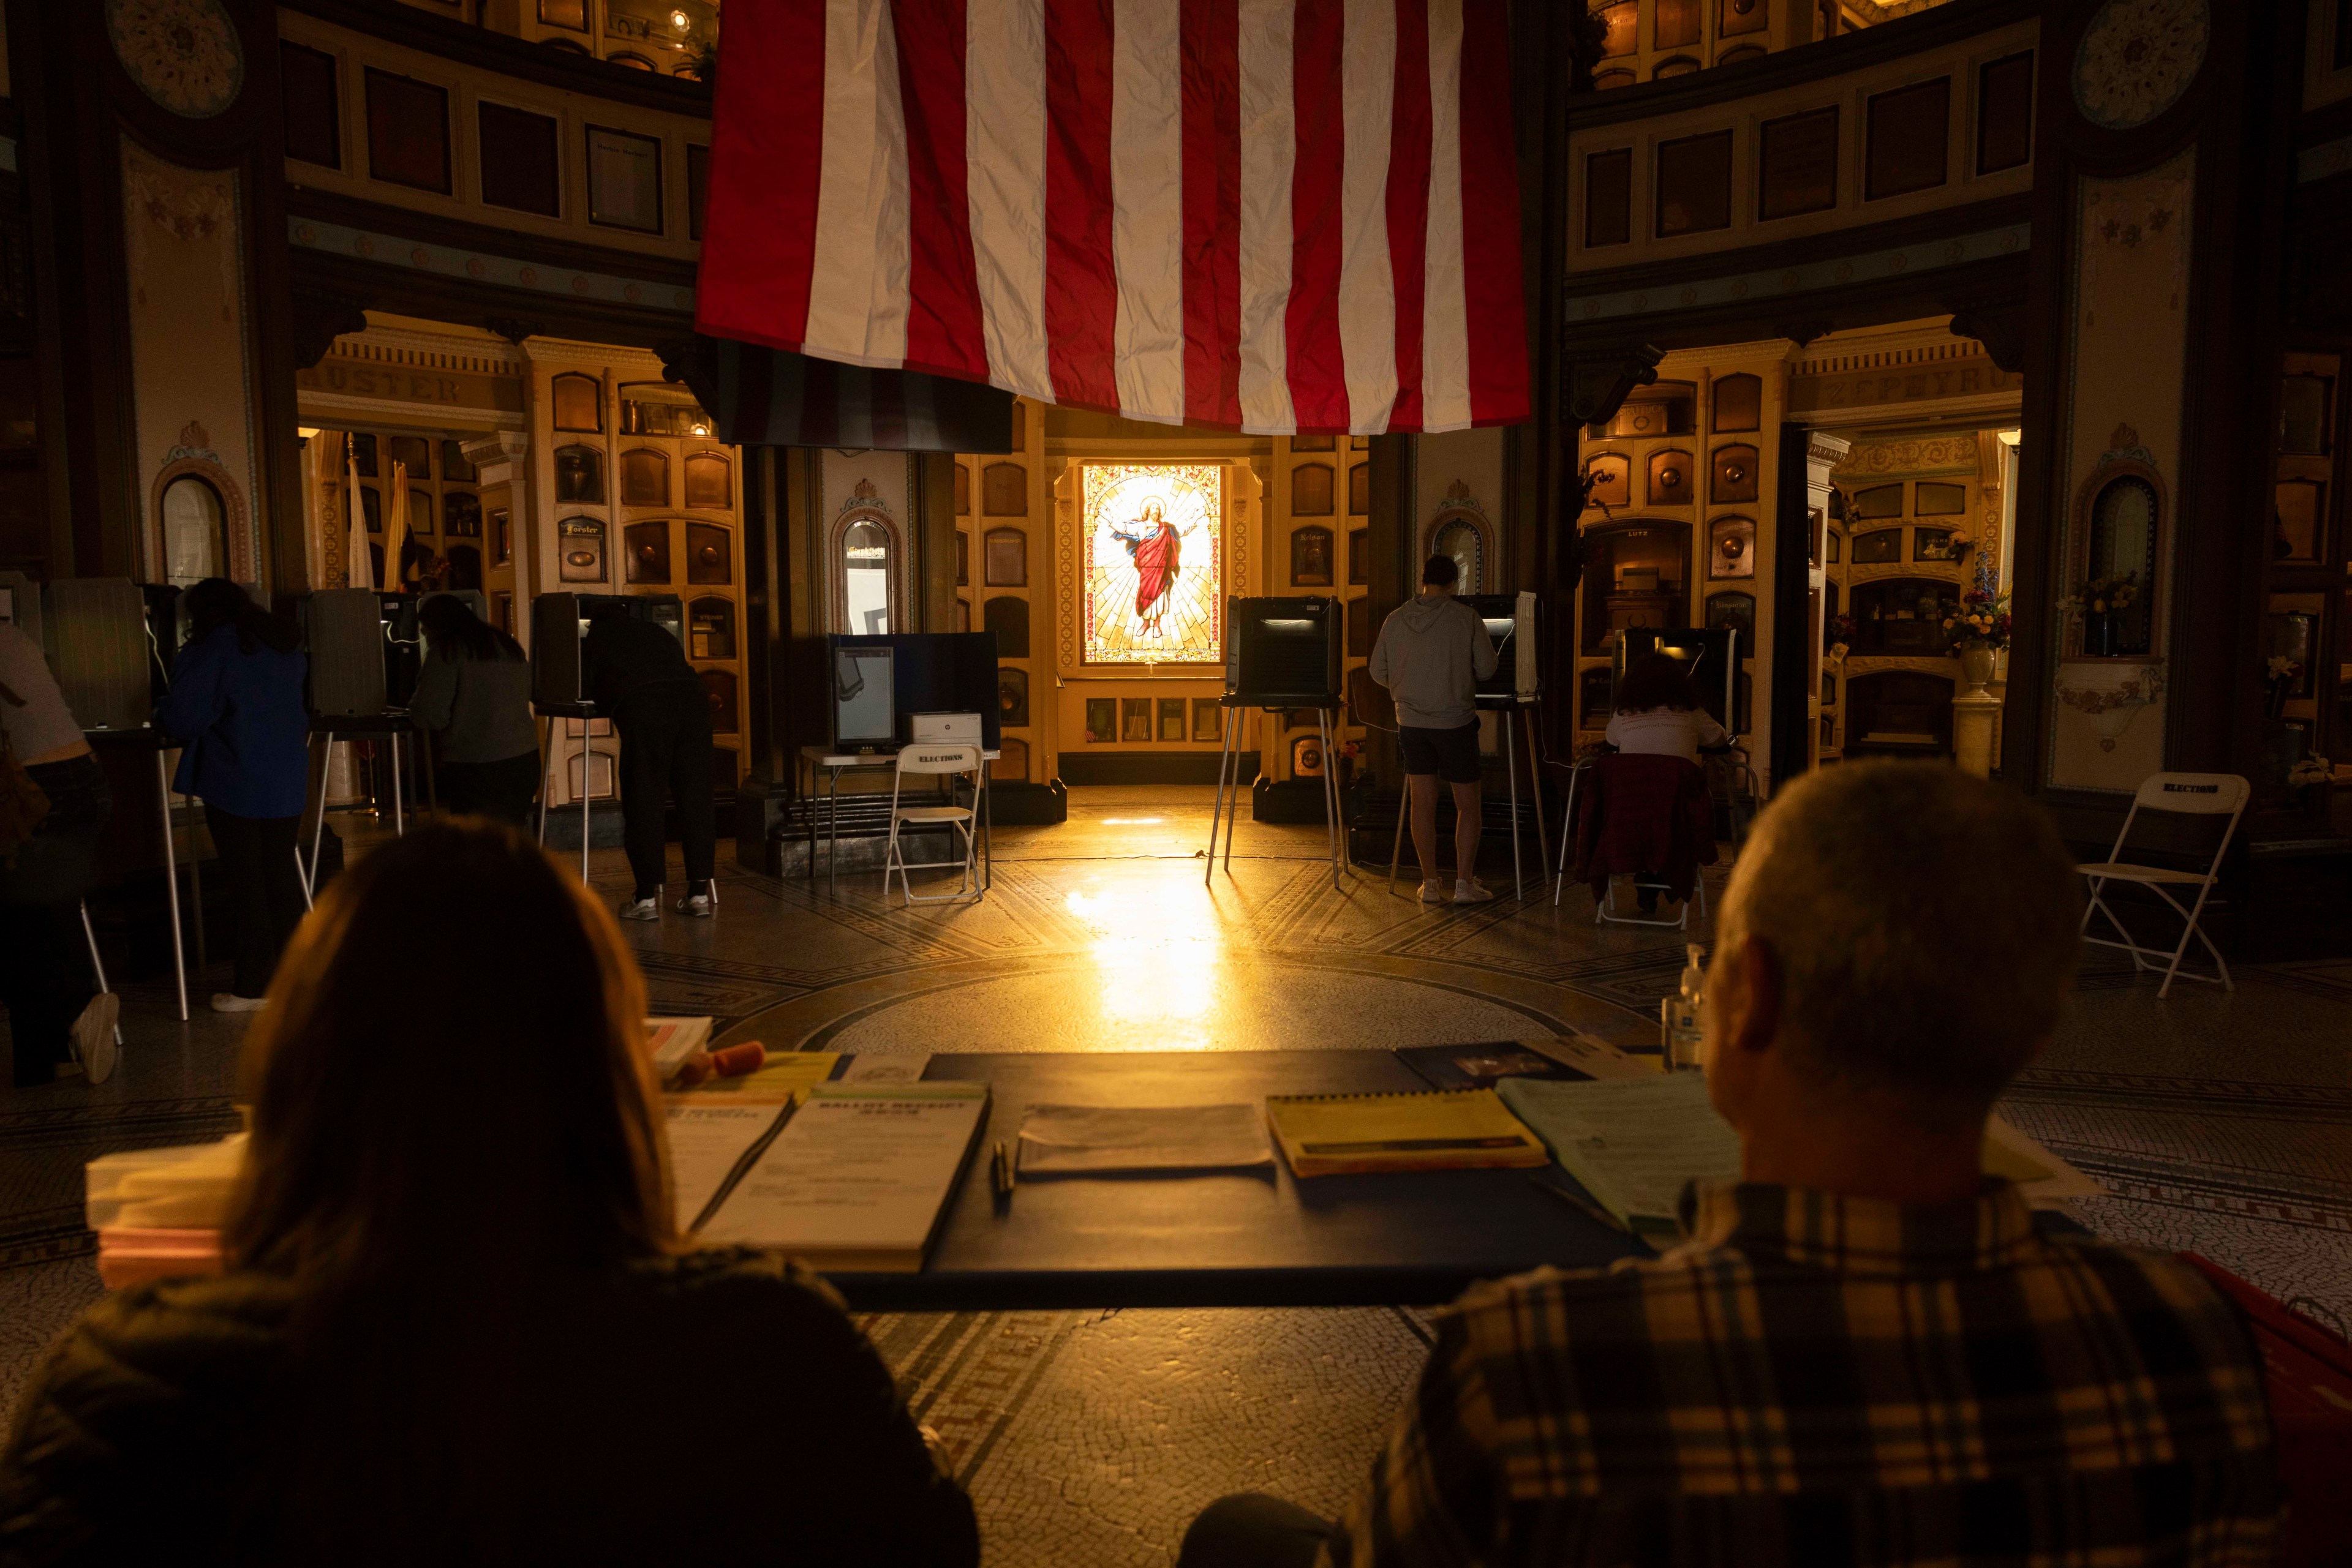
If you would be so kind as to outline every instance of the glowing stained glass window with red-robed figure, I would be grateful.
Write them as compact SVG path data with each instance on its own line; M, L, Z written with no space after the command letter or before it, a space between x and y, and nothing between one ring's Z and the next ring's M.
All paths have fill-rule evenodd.
M1223 661L1223 522L1216 463L1087 465L1084 663Z

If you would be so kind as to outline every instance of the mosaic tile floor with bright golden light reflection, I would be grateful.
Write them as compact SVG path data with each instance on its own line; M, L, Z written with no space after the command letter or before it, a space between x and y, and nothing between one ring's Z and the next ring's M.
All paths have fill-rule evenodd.
M875 875L724 867L717 919L628 926L654 1006L724 1037L837 1051L1390 1046L1588 1030L1656 1039L1670 931L1595 929L1534 879L1468 910L1378 875L1331 889L1319 827L1242 823L1202 884L1207 790L1073 790L1070 823L1007 827L985 903L898 910ZM616 851L595 858L619 898ZM1715 884L1717 891L1719 882ZM2119 954L2114 954L2119 957ZM223 971L226 973L226 971ZM2100 954L2006 1112L2098 1175L2129 1241L2194 1248L2352 1321L2352 961L2244 966L2169 1001ZM214 976L191 980L209 992ZM228 1126L238 1020L125 999L99 1088L0 1098L0 1410L99 1286L80 1227L94 1154ZM1409 1312L967 1312L868 1321L955 1453L990 1563L1164 1566L1190 1514L1263 1488L1336 1509L1421 1366Z

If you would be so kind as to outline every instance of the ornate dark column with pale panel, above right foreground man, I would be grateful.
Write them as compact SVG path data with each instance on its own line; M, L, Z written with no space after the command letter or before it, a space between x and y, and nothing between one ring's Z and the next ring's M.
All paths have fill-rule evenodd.
M2004 773L2077 837L2112 832L2147 773L2253 764L2298 16L2072 0L2044 21Z

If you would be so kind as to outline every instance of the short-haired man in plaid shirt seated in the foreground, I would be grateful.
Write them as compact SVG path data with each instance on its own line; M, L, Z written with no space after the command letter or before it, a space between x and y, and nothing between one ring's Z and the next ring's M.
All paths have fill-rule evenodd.
M1341 1523L1211 1505L1181 1568L2272 1561L2263 1359L2180 1258L2044 1234L1985 1119L2058 1027L2074 858L1933 762L1785 785L1731 875L1684 1244L1475 1286Z

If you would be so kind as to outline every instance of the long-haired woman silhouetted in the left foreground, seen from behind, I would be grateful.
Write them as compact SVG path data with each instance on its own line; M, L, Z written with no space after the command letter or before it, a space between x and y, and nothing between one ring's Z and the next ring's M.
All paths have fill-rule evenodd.
M682 1248L644 983L522 832L369 851L270 1001L228 1272L66 1331L0 1450L0 1559L978 1561L833 1293Z

